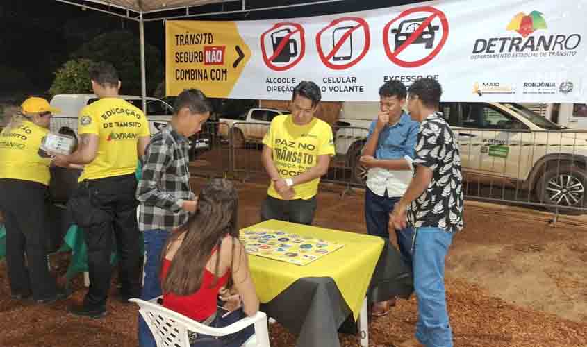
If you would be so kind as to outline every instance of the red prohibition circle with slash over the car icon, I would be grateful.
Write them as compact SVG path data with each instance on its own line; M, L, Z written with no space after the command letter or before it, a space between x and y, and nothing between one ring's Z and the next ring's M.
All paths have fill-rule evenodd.
M413 12L430 12L431 15L422 24L420 24L420 26L417 28L417 30L415 32L413 32L412 35L410 35L410 37L408 37L408 40L406 40L406 42L404 42L404 44L402 44L402 46L400 46L399 49L397 49L396 51L391 51L390 46L389 46L389 36L390 36L389 29L390 29L390 27L392 26L392 24L397 22L398 19L402 19L402 17L406 17L407 15L411 15ZM402 51L404 51L404 49L406 49L407 46L409 46L414 40L416 40L417 37L420 35L420 33L422 33L422 31L424 31L424 28L426 28L426 26L428 26L428 24L430 22L432 22L432 20L436 17L438 17L440 19L440 23L443 26L443 37L440 38L440 42L438 43L438 46L436 46L436 48L433 49L433 51L431 51L431 53L428 56L425 56L424 58L422 58L420 60L415 60L413 62L410 62L410 61L405 61L405 60L401 60L401 59L397 58L399 53L402 53ZM438 52L440 52L440 49L443 49L443 46L445 45L447 38L448 38L448 33L449 33L449 26L448 26L447 17L445 16L445 14L442 11L437 10L436 8L433 8L431 6L410 8L409 10L405 10L404 12L400 13L399 16L395 17L391 22L386 24L385 28L383 28L383 47L386 50L386 54L387 54L388 58L392 62L394 62L396 65L399 65L401 67L420 67L420 66L426 64L427 62L429 62L430 60L432 60L434 57L436 57Z

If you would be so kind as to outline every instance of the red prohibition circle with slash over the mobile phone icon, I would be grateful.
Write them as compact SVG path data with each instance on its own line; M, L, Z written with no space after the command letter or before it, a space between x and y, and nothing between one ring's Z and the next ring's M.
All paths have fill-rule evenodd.
M342 37L340 37L340 40L338 40L337 44L335 46L333 46L332 51L330 53L328 53L327 55L324 54L324 51L322 50L322 42L321 42L322 33L324 33L324 31L328 30L329 28L336 26L340 22L345 22L345 21L357 22L358 26L355 26L354 28L349 29L345 33L345 35L342 35ZM354 58L354 60L347 62L346 64L336 65L336 64L331 63L330 58L332 58L332 56L334 56L334 54L336 54L336 52L338 52L338 50L340 49L342 44L344 44L345 41L349 39L349 37L351 36L353 31L356 31L358 28L363 28L363 33L365 33L365 46L363 47L363 51L361 52L361 54L359 54L359 56ZM328 26L323 28L321 31L319 31L316 35L316 48L318 51L318 56L320 56L320 60L322 60L322 62L324 62L324 65L326 65L326 67L329 67L334 70L348 69L349 67L352 67L353 65L355 65L357 62L360 62L361 59L363 59L363 57L365 56L365 54L367 54L367 52L369 51L370 45L371 45L371 35L369 34L369 24L367 23L367 21L365 21L365 19L360 18L360 17L342 17L342 18L336 19L333 22L331 22L331 24L329 24Z

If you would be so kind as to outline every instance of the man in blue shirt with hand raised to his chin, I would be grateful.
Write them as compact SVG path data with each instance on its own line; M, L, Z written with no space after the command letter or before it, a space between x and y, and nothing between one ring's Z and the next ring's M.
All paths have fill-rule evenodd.
M379 88L379 115L371 124L360 158L369 168L365 189L367 232L385 239L389 238L389 214L413 176L414 148L420 130L420 124L402 110L406 94L406 86L400 81L388 81ZM402 260L411 267L413 230L395 230L395 234ZM372 314L387 314L393 303L395 300L376 303Z

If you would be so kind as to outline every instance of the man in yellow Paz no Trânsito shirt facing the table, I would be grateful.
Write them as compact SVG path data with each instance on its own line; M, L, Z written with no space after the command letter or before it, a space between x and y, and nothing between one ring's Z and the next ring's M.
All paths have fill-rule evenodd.
M261 220L310 225L314 219L320 176L334 155L332 128L314 117L320 87L302 81L292 96L292 114L273 119L263 138L263 166L271 177Z

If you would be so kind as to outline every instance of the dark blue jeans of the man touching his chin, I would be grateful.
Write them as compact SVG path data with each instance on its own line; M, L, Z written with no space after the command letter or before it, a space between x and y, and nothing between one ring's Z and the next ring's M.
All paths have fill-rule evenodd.
M389 214L393 211L395 204L399 202L400 198L390 198L387 196L379 196L371 189L365 189L365 222L367 224L367 232L369 235L383 237L389 239L388 223ZM404 264L412 268L412 242L414 231L411 226L403 230L395 230L397 237L397 245L399 246L399 254L402 255Z

